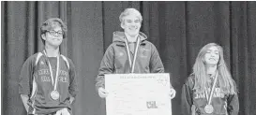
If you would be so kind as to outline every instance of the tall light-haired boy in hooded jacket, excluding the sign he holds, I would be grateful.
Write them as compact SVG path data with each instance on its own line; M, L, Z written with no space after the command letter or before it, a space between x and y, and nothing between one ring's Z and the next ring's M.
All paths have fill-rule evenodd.
M96 87L100 97L108 95L104 89L105 74L163 73L164 66L156 47L140 32L143 17L135 8L127 8L119 20L124 32L113 33L113 43L106 50L98 69ZM175 96L171 87L170 97Z

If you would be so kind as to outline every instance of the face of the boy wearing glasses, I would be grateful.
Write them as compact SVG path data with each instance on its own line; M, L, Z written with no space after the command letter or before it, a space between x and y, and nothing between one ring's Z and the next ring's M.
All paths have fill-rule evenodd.
M45 45L58 47L62 43L63 34L61 27L56 26L53 30L42 35L42 38L45 40Z

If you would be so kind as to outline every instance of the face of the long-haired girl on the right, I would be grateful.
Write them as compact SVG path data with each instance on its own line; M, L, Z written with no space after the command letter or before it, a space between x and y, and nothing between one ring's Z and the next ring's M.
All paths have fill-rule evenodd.
M217 65L219 60L219 50L217 47L212 46L204 54L204 61L207 65Z

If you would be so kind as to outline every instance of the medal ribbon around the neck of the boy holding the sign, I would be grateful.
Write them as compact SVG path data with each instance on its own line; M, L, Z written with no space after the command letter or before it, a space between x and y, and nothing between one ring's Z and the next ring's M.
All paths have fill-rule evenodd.
M131 72L130 73L133 73L134 72L134 67L135 67L135 62L136 62L136 57L137 57L137 53L138 53L138 49L139 49L139 44L140 44L140 37L137 38L137 44L136 44L136 49L135 49L135 52L134 52L133 63L131 63L131 57L130 57L130 54L129 54L128 39L126 38L125 41L126 41L126 46L127 46L127 51L128 51L128 64L129 64L129 67L131 67Z

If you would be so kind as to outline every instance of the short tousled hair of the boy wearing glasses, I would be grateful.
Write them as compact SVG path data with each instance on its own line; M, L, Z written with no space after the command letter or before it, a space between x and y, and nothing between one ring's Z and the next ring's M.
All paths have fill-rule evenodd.
M40 27L40 36L45 34L47 31L51 31L53 30L53 28L55 27L61 27L62 31L63 31L63 38L66 38L67 36L67 25L59 18L51 18L48 19L47 21L43 22L41 27ZM42 39L42 37L41 37ZM42 39L43 44L45 44L45 41Z

